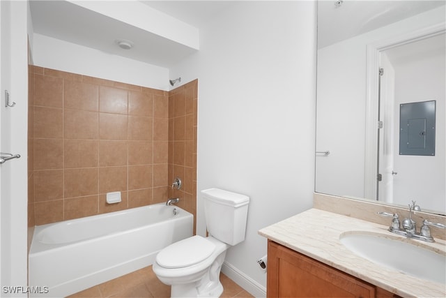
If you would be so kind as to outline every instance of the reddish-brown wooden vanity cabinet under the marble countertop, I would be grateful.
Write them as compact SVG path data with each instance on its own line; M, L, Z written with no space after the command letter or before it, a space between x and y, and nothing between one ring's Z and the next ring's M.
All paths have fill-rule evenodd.
M267 297L398 297L268 240Z

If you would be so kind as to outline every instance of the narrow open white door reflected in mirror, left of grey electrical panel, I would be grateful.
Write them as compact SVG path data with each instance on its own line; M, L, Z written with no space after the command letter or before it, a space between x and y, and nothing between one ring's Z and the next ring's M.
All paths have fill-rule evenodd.
M380 104L378 147L378 200L393 202L395 71L385 52L380 52Z

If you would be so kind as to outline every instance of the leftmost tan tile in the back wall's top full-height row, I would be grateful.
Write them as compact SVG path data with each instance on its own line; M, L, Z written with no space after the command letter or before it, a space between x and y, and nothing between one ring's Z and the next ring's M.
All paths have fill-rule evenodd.
M34 75L34 105L62 107L63 80L59 77Z

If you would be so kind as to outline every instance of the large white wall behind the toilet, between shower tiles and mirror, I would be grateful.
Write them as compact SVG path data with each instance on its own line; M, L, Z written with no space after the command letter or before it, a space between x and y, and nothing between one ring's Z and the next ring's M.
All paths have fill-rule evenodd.
M257 231L312 207L315 13L310 1L240 1L201 31L197 54L171 68L183 82L199 79L197 232L206 232L199 191L249 195L246 239L230 248L224 271L257 297L267 244Z

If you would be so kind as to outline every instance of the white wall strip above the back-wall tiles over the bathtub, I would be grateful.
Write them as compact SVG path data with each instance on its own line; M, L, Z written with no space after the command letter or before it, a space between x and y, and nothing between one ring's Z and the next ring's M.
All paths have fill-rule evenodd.
M153 89L169 90L169 69L33 34L35 66Z

